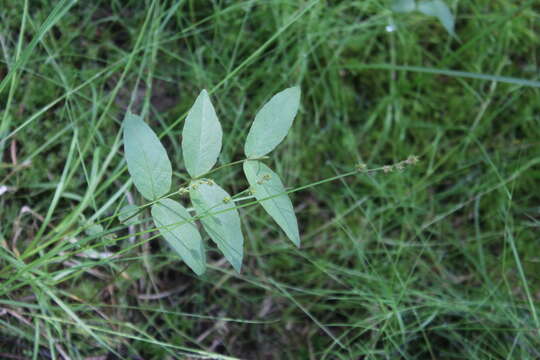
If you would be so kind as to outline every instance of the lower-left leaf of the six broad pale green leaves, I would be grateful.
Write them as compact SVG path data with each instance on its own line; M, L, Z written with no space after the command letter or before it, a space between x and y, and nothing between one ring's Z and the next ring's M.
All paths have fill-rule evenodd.
M176 201L161 199L152 205L152 218L169 246L195 274L203 274L206 270L204 246L187 210Z

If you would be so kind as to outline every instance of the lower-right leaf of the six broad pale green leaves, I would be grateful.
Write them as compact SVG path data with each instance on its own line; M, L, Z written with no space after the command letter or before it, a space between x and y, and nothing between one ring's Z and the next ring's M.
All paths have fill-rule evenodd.
M298 221L291 199L285 193L285 187L279 176L260 161L245 161L244 173L255 198L283 229L287 237L299 247Z

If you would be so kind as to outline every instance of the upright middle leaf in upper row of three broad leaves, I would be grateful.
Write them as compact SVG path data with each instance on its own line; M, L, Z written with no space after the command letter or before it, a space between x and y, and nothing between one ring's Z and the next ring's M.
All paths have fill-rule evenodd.
M216 111L208 92L203 90L189 110L182 131L184 163L192 178L207 173L215 165L222 136Z

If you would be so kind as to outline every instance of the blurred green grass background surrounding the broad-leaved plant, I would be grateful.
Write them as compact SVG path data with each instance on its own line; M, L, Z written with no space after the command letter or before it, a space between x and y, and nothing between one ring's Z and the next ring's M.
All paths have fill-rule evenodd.
M446 2L459 39L383 0L3 1L0 358L540 358L539 86L522 81L540 75L540 2ZM118 223L143 204L120 141L129 104L178 186L202 88L225 164L295 84L271 160L291 188L419 164L293 194L300 249L244 208L241 275L208 242L197 278L149 222ZM239 170L216 180L239 192Z

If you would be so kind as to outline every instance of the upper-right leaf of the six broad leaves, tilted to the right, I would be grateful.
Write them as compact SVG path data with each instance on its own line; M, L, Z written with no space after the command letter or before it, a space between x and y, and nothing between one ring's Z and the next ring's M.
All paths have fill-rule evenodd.
M285 138L298 107L300 87L285 89L274 95L255 116L244 146L248 158L268 154Z

